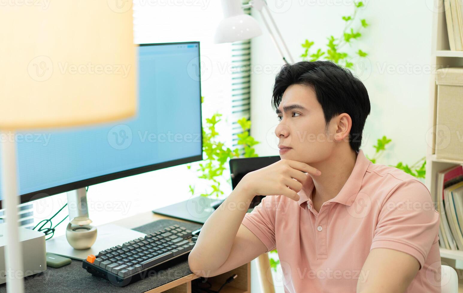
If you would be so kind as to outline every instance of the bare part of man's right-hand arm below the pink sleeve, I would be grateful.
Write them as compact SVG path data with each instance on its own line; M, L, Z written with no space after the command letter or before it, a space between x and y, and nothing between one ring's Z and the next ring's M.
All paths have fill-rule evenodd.
M418 260L405 252L374 248L363 264L357 293L406 292L418 269Z

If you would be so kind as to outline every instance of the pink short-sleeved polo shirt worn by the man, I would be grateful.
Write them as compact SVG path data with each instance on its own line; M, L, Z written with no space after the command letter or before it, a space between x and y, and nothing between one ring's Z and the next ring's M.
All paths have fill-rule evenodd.
M356 292L373 248L403 251L418 260L408 293L440 292L439 214L423 183L371 163L360 150L349 179L319 213L312 190L308 176L299 201L266 196L242 222L268 251L278 250L285 293Z

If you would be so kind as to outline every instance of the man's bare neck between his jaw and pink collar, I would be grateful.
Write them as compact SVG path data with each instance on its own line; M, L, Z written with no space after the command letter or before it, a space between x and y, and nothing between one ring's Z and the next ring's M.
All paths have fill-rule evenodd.
M357 160L357 153L350 148L346 152L334 152L325 161L309 164L321 171L320 176L313 176L312 202L321 206L325 201L336 197L349 179Z

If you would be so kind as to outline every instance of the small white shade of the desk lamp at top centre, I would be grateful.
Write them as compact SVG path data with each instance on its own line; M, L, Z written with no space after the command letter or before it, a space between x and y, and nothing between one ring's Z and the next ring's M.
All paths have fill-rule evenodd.
M224 19L215 32L214 43L243 41L262 35L257 20L244 14L239 0L222 0Z

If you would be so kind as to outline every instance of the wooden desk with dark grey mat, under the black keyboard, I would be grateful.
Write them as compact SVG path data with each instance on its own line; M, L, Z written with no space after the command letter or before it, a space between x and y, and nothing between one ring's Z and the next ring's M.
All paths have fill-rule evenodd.
M155 222L157 220L162 220ZM153 214L151 211L138 214L122 220L117 220L111 224L134 229L140 232L153 231L153 227L159 225L167 227L173 225L172 221L184 223L188 229L200 224L190 221L171 218L168 216ZM153 223L155 222L155 223ZM179 223L180 225L180 223ZM159 229L162 229L160 227ZM197 227L196 227L197 229ZM178 273L178 274L177 274ZM238 277L227 284L220 293L250 293L251 276L250 262L226 272L221 275L210 277L207 281L212 283L212 290L218 290L232 274ZM25 278L25 292L149 292L149 293L191 293L191 281L199 278L194 275L188 267L188 256L176 262L171 268L163 270L163 274L152 275L146 279L134 282L125 287L118 287L105 279L101 279L89 274L82 269L82 262L72 260L71 264L59 269L47 267L43 273ZM169 280L169 281L165 281ZM0 293L6 292L5 284L0 285Z

